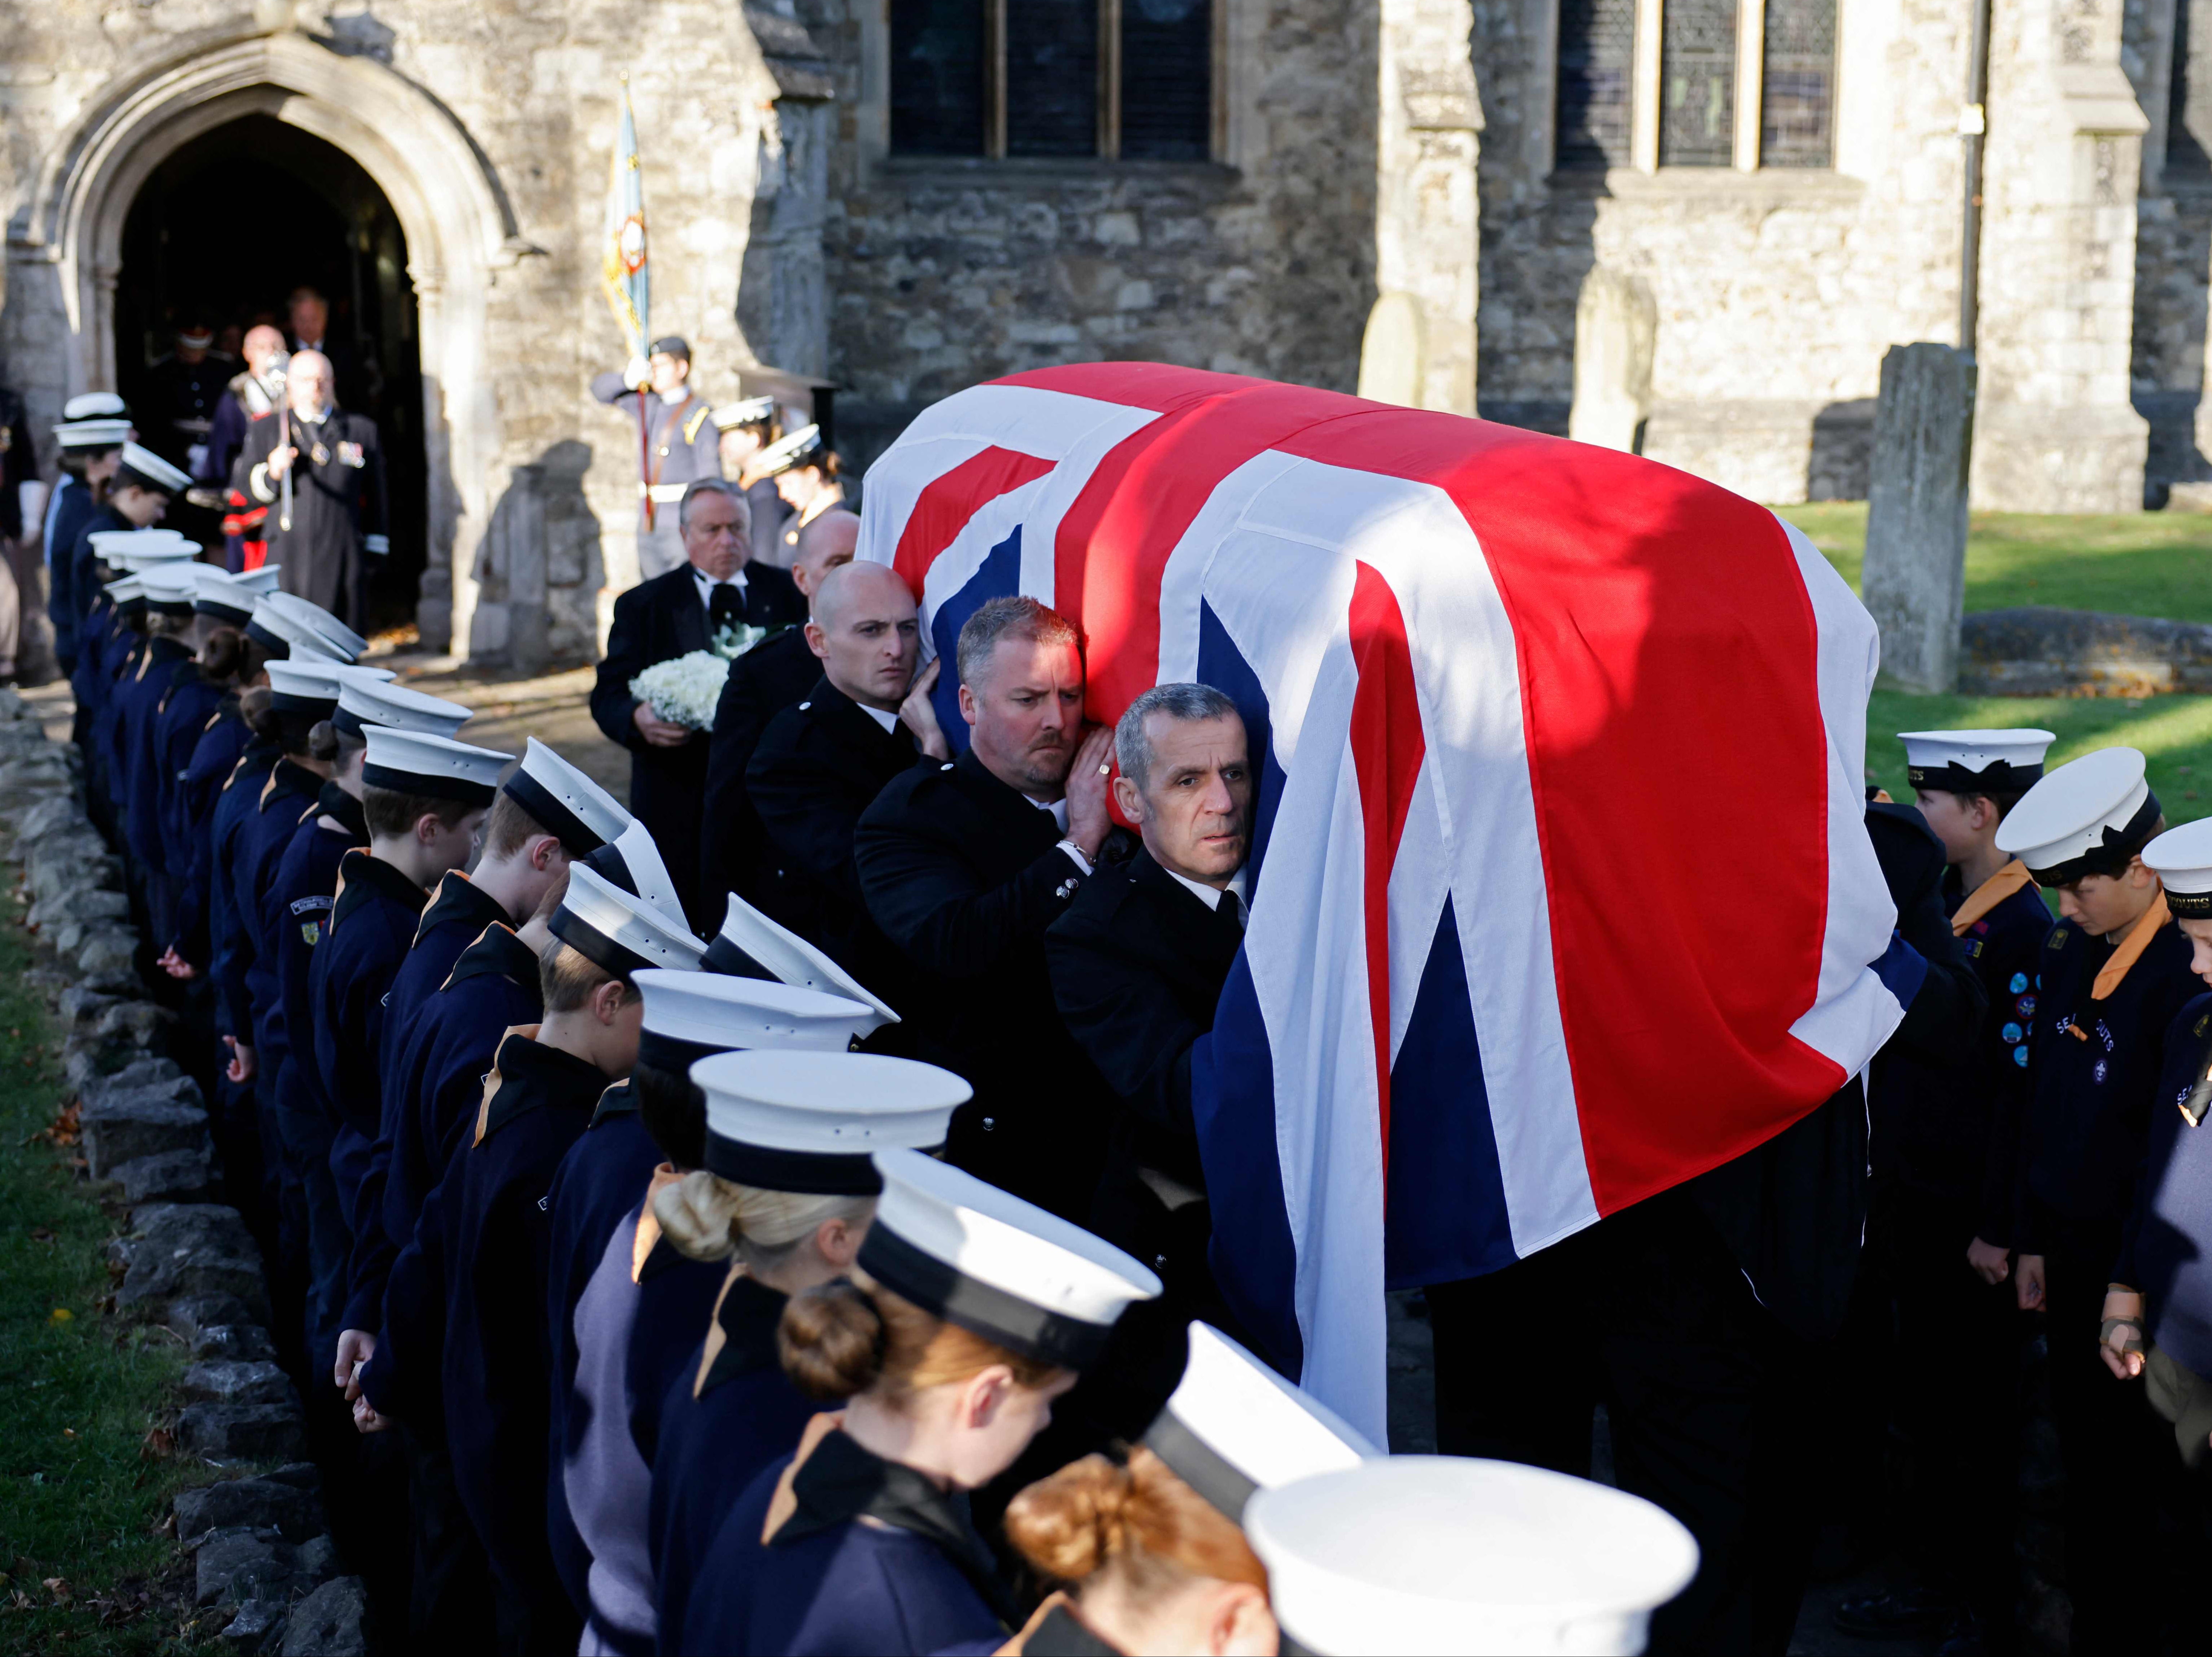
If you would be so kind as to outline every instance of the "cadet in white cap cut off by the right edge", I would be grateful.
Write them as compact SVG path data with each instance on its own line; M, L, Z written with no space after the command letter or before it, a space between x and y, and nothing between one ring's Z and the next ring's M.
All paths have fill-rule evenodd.
M2183 823L2143 847L2166 885L2190 967L2212 984L2212 819ZM2143 1378L2172 1425L2181 1465L2197 1473L2212 1442L2212 996L2190 1000L2166 1033L2166 1073L2150 1115L2150 1148L2104 1299L2104 1363Z

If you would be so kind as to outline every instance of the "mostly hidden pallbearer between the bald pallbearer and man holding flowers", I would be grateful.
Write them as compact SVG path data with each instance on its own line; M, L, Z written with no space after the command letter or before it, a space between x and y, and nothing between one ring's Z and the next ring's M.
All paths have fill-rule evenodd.
M761 484L774 491L774 484ZM799 557L792 562L792 586L814 602L823 577L852 562L860 542L860 515L830 511L799 535ZM805 699L821 677L821 661L807 646L805 628L787 628L761 639L730 664L730 679L714 704L714 732L708 737L706 799L699 825L699 889L703 898L737 892L759 903L765 892L768 836L745 796L745 765L768 730L768 721ZM936 684L931 675L929 684Z

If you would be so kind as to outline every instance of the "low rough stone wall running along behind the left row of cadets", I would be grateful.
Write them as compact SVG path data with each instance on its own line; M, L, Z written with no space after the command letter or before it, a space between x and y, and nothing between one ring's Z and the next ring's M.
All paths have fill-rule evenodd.
M128 1230L108 1241L115 1310L164 1323L192 1356L177 1451L239 1473L177 1496L195 1602L230 1611L239 1653L367 1650L367 1599L343 1575L305 1420L268 1336L261 1252L239 1210L210 1201L221 1168L199 1086L164 1053L173 1013L146 996L122 865L84 814L77 750L0 688L0 834L22 865L27 923L51 967L62 1064L77 1093L86 1173L122 1188ZM276 1465L276 1471L252 1473Z

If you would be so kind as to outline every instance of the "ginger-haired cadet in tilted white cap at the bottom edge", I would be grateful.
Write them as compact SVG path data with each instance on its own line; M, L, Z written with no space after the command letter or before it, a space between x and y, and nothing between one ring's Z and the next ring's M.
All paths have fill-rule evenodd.
M1259 1491L1380 1451L1206 1323L1177 1341L1175 1394L1126 1458L1084 1456L1006 1509L1006 1542L1060 1582L1006 1646L1057 1653L1274 1650L1267 1571L1243 1535Z

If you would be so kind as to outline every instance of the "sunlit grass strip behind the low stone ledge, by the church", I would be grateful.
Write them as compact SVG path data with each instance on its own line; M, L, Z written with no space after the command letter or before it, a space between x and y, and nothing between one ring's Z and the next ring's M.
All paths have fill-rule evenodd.
M1823 500L1783 507L1781 513L1858 586L1867 551L1865 500ZM2002 611L2013 604L2212 622L2212 515L2042 518L1978 511L1966 529L1966 608Z

